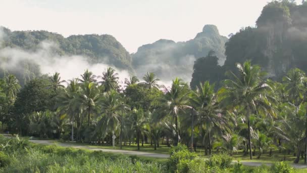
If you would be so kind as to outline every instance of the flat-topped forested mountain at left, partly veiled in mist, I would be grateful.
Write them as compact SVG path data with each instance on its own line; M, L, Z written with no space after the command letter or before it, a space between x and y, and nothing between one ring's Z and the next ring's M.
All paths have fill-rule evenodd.
M22 84L41 75L39 63L33 57L38 57L41 62L42 59L52 61L54 57L82 56L90 64L104 63L134 73L130 54L112 35L71 35L65 38L48 31L12 32L4 27L0 30L0 76L15 74Z

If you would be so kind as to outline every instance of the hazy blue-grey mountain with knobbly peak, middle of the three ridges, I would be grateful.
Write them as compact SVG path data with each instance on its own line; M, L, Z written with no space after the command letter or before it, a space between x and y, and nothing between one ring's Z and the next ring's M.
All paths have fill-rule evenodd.
M224 64L227 37L221 36L215 25L205 25L195 38L183 42L160 39L143 45L132 54L132 65L140 77L147 71L154 72L162 80L181 77L190 80L193 64L199 57L215 51L218 63Z

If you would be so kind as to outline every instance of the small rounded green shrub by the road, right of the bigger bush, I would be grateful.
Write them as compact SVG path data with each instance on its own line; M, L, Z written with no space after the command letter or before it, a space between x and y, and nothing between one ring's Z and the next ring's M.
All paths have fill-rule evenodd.
M206 163L209 167L219 167L221 169L229 168L231 166L232 158L226 154L212 155Z

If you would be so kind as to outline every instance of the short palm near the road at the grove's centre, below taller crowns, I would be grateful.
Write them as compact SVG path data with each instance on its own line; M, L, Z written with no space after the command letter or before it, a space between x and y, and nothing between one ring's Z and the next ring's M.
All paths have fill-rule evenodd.
M149 135L149 118L148 113L144 112L143 109L134 108L131 112L131 121L129 125L131 126L132 132L136 135L137 150L140 150L140 138L144 135Z

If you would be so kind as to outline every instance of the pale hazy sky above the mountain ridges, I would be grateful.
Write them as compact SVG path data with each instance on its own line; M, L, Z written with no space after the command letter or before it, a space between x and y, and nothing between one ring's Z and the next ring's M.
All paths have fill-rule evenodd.
M185 41L205 24L222 35L254 26L270 0L0 0L11 30L111 34L130 52L160 38ZM300 1L301 2L301 1Z

